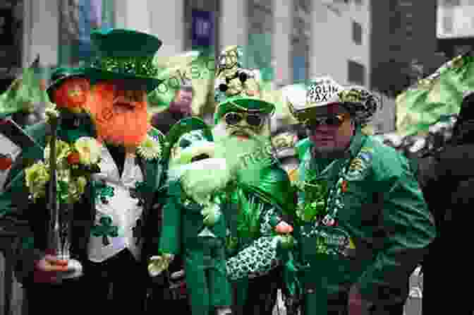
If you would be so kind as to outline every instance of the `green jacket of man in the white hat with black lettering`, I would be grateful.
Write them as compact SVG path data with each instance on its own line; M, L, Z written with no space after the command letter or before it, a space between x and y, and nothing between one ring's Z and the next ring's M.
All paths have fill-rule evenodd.
M322 283L327 292L342 290L343 283L357 283L363 297L375 302L382 288L406 285L403 280L420 263L423 249L432 242L436 231L406 158L358 130L349 149L351 156L355 157L361 148L372 150L370 164L360 177L348 180L344 208L337 215L338 228L346 231L356 246L356 259L333 256L328 258L330 263L320 262L315 257L315 239L302 237L299 232L295 236L301 244L303 264L312 261L311 269L327 271ZM310 158L309 150L305 158ZM348 158L336 161L320 177L334 184ZM327 165L327 160L312 162L310 165L316 170ZM304 164L303 161L300 167L301 180L305 178ZM383 224L384 237L375 234L377 218Z

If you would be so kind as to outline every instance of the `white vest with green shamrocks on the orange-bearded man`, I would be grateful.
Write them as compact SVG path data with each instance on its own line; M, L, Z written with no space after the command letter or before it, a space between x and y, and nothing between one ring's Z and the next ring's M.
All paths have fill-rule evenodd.
M123 249L129 249L133 256L140 259L141 244L136 244L133 237L133 228L142 215L143 208L138 205L138 198L130 196L130 189L135 189L137 182L142 182L143 174L140 166L135 162L135 155L126 155L122 176L112 158L109 150L102 146L101 172L93 175L94 180L102 180L107 186L114 188L114 196L107 197L108 203L103 203L96 198L95 225L100 225L99 220L106 216L111 218L111 225L118 227L118 237L107 236L108 245L104 245L103 237L95 237L92 233L89 242L89 260L102 262L119 254Z

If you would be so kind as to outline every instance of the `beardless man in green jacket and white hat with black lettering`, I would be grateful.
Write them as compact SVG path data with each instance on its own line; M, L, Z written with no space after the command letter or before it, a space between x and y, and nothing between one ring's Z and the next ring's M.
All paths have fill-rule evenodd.
M435 237L409 162L361 129L379 103L365 88L315 79L291 112L299 143L303 314L403 314L408 280Z

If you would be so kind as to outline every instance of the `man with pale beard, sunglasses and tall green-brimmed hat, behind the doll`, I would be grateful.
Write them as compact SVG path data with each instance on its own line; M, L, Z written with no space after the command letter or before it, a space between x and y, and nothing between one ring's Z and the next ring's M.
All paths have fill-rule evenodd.
M262 100L255 70L234 67L222 72L215 86L214 140L238 141L227 150L243 163L223 207L229 229L227 274L235 289L236 314L272 314L281 284L275 227L295 206L288 175L270 144L274 105Z

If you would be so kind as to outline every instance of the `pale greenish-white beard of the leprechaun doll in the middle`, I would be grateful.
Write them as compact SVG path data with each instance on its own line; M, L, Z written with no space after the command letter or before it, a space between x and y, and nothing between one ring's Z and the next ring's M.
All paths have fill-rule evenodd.
M199 203L209 201L209 196L224 189L232 178L226 160L219 157L176 165L168 176L169 181L180 180L186 194Z

